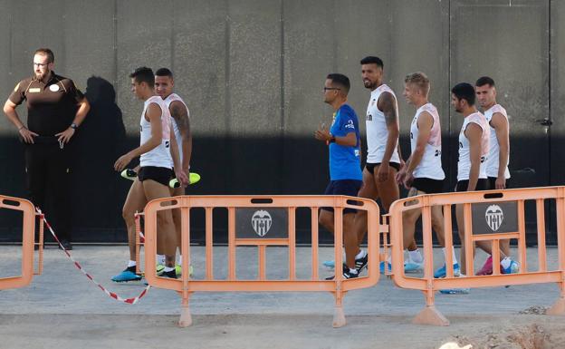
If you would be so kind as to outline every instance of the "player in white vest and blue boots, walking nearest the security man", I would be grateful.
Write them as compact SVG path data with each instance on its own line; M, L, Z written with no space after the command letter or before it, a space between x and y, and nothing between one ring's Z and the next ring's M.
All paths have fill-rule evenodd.
M116 282L137 281L141 276L135 274L135 218L136 211L142 211L149 200L170 197L168 181L173 177L172 167L178 164L177 142L170 138L170 113L163 100L155 95L153 71L141 67L129 75L131 90L144 101L139 121L139 147L130 150L116 160L114 169L121 171L131 160L139 157L138 178L129 189L122 216L128 228L129 264L119 275L113 276ZM174 156L171 156L171 152ZM181 182L187 179L177 174ZM173 218L169 210L158 212L158 235L165 241L166 268L161 276L177 278L175 273L175 253L177 238Z

